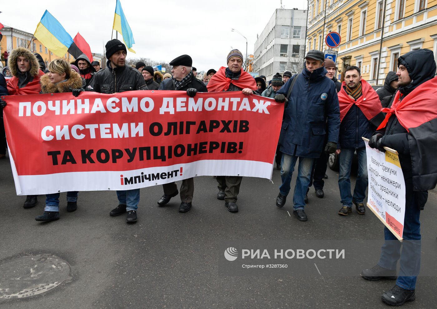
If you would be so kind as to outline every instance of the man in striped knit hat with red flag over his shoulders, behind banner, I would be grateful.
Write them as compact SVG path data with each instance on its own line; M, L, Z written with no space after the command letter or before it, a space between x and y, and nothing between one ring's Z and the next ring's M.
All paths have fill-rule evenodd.
M228 67L221 67L208 82L209 92L241 91L244 95L251 95L257 91L255 79L243 71L243 54L233 49L226 57ZM219 200L225 200L225 207L230 212L238 212L236 204L240 191L241 176L217 176Z

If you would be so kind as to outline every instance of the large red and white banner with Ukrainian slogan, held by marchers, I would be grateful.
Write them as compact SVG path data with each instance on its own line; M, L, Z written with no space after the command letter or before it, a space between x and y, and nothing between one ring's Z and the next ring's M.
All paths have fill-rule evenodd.
M205 175L271 179L284 110L241 92L3 98L18 195L129 190Z

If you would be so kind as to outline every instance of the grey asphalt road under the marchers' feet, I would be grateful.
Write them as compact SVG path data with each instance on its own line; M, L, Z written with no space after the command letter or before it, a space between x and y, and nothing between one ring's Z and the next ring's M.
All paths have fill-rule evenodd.
M25 197L15 194L9 160L1 160L0 262L53 255L69 263L73 279L42 295L0 302L0 307L388 308L381 294L393 281L369 282L358 274L225 276L218 267L223 241L383 239L383 225L370 211L364 216L355 211L347 217L337 214L338 176L329 169L328 175L325 198L310 190L307 222L293 217L291 196L284 208L275 206L281 181L274 170L273 183L243 179L236 214L217 200L215 179L198 177L193 208L186 214L178 212L179 197L158 207L162 187L157 186L141 190L135 224L127 224L124 215L109 216L118 201L108 191L80 192L73 213L65 211L66 194L61 194L60 220L40 223L34 218L43 212L44 197L38 197L36 207L23 209ZM295 177L292 188L294 182ZM421 217L423 239L437 236L436 201L437 194L431 192ZM368 266L376 262L368 261ZM416 300L404 308L435 308L436 286L436 277L420 277Z

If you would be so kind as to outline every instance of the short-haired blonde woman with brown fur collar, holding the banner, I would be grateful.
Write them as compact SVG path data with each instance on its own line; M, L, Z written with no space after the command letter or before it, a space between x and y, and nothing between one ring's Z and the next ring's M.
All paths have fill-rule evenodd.
M56 59L47 66L49 73L41 78L41 93L74 92L82 86L82 78L71 69L63 59ZM35 217L36 221L53 221L59 219L59 193L45 195L44 213ZM67 192L67 211L77 209L77 191Z

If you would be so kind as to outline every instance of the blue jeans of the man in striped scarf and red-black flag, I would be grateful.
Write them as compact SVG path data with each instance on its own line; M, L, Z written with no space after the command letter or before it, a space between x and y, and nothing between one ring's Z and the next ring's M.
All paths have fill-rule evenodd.
M340 189L341 204L347 207L352 207L352 199L355 203L362 203L366 197L368 186L366 149L360 148L356 150L358 156L358 177L355 183L354 196L350 194L350 169L355 149L341 149L339 155L340 175L338 177L338 187Z

